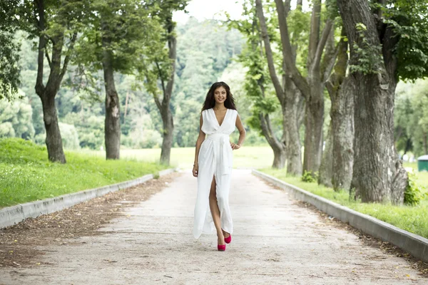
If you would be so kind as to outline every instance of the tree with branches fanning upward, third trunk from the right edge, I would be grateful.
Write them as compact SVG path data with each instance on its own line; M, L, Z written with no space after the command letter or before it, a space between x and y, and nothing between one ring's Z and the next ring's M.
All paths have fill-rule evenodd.
M261 21L264 21L263 9L260 0L256 0L258 5L258 15ZM332 60L330 56L322 54L327 42L328 35L332 32L332 21L327 19L324 30L320 35L321 26L321 1L316 0L313 4L310 40L307 53L307 76L296 66L293 58L293 46L290 41L290 33L287 24L287 13L290 7L290 1L275 0L277 10L278 25L280 28L281 48L283 64L286 68L287 77L295 84L298 90L305 98L305 155L303 160L303 170L316 172L320 167L322 152L322 125L324 119L324 84L327 76L330 74ZM267 30L262 26L263 38L267 46ZM322 63L325 61L325 64ZM277 81L272 78L272 81ZM279 82L274 83L275 89L279 89ZM291 132L295 133L295 132Z

